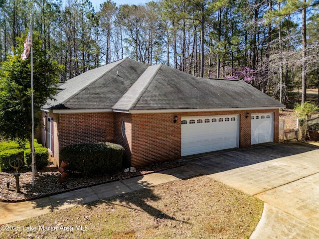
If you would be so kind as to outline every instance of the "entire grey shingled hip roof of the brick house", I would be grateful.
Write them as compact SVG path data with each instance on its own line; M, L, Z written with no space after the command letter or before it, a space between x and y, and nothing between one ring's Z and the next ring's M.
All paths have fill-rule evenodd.
M45 109L181 110L284 108L239 80L198 78L126 58L68 80Z

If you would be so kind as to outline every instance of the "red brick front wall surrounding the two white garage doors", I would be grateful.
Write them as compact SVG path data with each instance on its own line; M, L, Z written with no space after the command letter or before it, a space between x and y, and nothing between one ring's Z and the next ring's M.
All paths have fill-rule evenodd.
M247 112L249 117L246 119ZM274 141L278 142L278 110L134 114L131 121L131 164L140 167L180 158L181 117L239 115L239 147L251 146L251 114L255 113L274 113ZM178 119L176 123L173 123L175 115Z

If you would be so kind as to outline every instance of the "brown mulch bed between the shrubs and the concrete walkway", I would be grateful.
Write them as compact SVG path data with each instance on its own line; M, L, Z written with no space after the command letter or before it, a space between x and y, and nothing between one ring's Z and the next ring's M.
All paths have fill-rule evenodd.
M19 169L20 193L16 192L15 172L0 172L0 201L29 201L102 183L159 172L178 166L181 166L181 164L176 161L166 161L138 168L133 173L122 171L113 175L100 175L90 178L82 177L76 173L69 173L66 180L63 183L59 183L61 173L57 172L57 168L53 164L50 164L39 172L39 177L34 179L34 188L32 187L32 172L26 168L21 168ZM7 182L9 182L9 188L7 188Z

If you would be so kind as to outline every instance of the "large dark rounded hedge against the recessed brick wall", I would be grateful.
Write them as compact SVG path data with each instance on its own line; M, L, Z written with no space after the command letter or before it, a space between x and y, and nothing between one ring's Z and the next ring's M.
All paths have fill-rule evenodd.
M124 148L114 143L81 143L63 148L60 160L67 169L84 176L113 173L122 169Z

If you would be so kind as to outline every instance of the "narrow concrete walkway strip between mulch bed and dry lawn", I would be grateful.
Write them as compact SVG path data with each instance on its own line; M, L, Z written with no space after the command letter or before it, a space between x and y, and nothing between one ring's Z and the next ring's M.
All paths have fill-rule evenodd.
M144 176L82 188L27 202L0 202L0 225L40 216L54 210L65 209L77 204L105 199L161 183L190 178L196 175L198 175L198 173L182 166L161 171L159 173L152 173Z

